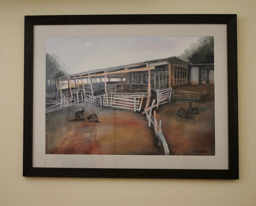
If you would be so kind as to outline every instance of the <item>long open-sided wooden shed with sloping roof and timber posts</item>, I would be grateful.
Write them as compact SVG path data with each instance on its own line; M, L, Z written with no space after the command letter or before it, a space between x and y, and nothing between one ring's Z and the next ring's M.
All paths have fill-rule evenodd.
M176 56L124 66L89 70L56 78L56 87L62 97L74 92L85 94L110 93L121 89L164 89L188 83L190 64Z

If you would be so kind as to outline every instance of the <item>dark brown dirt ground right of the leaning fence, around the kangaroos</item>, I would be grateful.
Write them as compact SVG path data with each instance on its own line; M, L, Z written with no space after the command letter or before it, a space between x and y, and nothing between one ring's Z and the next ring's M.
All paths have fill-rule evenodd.
M193 119L175 116L179 108L187 109L189 100L175 100L161 105L157 119L162 120L162 130L171 155L215 155L215 115L214 85L183 86L176 88L185 91L203 91L207 93L202 101L192 101L200 114Z

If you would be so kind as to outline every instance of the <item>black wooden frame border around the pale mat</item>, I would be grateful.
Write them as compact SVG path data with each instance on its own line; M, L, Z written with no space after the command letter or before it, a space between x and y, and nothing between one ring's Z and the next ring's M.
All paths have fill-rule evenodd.
M96 169L32 167L34 25L226 24L228 48L229 169ZM132 14L25 16L23 176L102 178L239 179L236 14Z

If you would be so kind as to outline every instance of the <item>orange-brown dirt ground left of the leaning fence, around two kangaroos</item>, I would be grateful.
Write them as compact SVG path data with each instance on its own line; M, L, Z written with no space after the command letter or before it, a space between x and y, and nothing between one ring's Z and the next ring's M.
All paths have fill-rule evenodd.
M85 120L75 121L83 106ZM89 122L90 114L100 122ZM46 153L159 155L162 150L144 116L85 102L46 114Z

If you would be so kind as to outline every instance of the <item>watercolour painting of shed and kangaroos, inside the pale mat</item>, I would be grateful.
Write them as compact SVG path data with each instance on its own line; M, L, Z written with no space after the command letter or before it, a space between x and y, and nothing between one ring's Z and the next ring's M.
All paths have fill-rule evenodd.
M45 154L215 156L214 37L47 37Z

